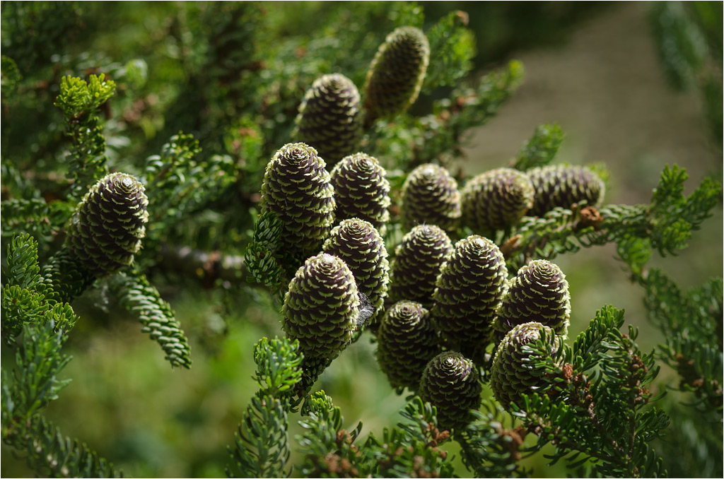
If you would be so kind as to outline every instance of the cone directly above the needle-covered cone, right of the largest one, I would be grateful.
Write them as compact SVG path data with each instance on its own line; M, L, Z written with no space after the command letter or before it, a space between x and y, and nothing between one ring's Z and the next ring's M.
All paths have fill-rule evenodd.
M547 260L533 260L509 281L493 323L498 341L508 331L534 321L565 337L571 319L571 293L560 268Z

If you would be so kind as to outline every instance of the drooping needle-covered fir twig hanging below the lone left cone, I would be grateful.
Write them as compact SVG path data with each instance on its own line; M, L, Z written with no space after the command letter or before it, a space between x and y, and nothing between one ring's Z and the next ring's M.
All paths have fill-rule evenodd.
M188 339L175 318L168 302L148 282L143 274L118 274L111 279L111 287L117 290L120 301L125 308L138 316L143 326L141 332L159 343L166 359L172 366L190 368L191 349Z

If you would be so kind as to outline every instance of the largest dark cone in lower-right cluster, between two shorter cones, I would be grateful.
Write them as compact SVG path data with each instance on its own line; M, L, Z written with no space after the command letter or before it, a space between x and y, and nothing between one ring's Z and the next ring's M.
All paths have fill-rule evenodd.
M432 308L437 328L451 344L468 354L484 347L506 276L505 260L491 240L473 234L455 244L440 268Z

